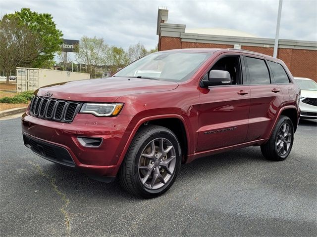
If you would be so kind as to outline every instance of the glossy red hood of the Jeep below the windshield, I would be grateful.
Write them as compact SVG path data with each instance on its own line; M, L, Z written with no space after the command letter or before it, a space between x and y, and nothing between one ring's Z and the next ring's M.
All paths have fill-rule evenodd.
M171 81L112 77L57 83L41 87L36 93L62 100L114 102L121 96L168 91L177 86L178 83Z

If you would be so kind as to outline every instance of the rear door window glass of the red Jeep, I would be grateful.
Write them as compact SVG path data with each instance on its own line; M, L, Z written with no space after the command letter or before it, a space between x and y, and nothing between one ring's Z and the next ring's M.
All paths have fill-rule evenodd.
M265 61L258 58L246 58L251 80L250 84L269 84L269 73Z

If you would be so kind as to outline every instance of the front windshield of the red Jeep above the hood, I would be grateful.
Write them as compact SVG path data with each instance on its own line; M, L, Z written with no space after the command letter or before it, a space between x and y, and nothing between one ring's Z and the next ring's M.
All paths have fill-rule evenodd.
M169 81L189 79L211 53L158 52L131 63L114 77L139 77Z

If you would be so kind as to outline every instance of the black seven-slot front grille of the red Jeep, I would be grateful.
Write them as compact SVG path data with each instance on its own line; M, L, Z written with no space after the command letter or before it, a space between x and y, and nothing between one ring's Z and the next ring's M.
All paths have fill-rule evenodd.
M81 103L34 96L31 100L30 115L48 120L72 122Z

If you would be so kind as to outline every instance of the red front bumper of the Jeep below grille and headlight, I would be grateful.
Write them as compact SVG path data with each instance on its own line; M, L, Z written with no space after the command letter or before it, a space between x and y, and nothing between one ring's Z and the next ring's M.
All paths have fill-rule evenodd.
M131 119L132 116L99 118L77 114L72 123L64 123L26 113L22 116L22 133L24 144L37 155L100 179L116 176ZM84 147L77 137L98 137L103 142L99 147Z

